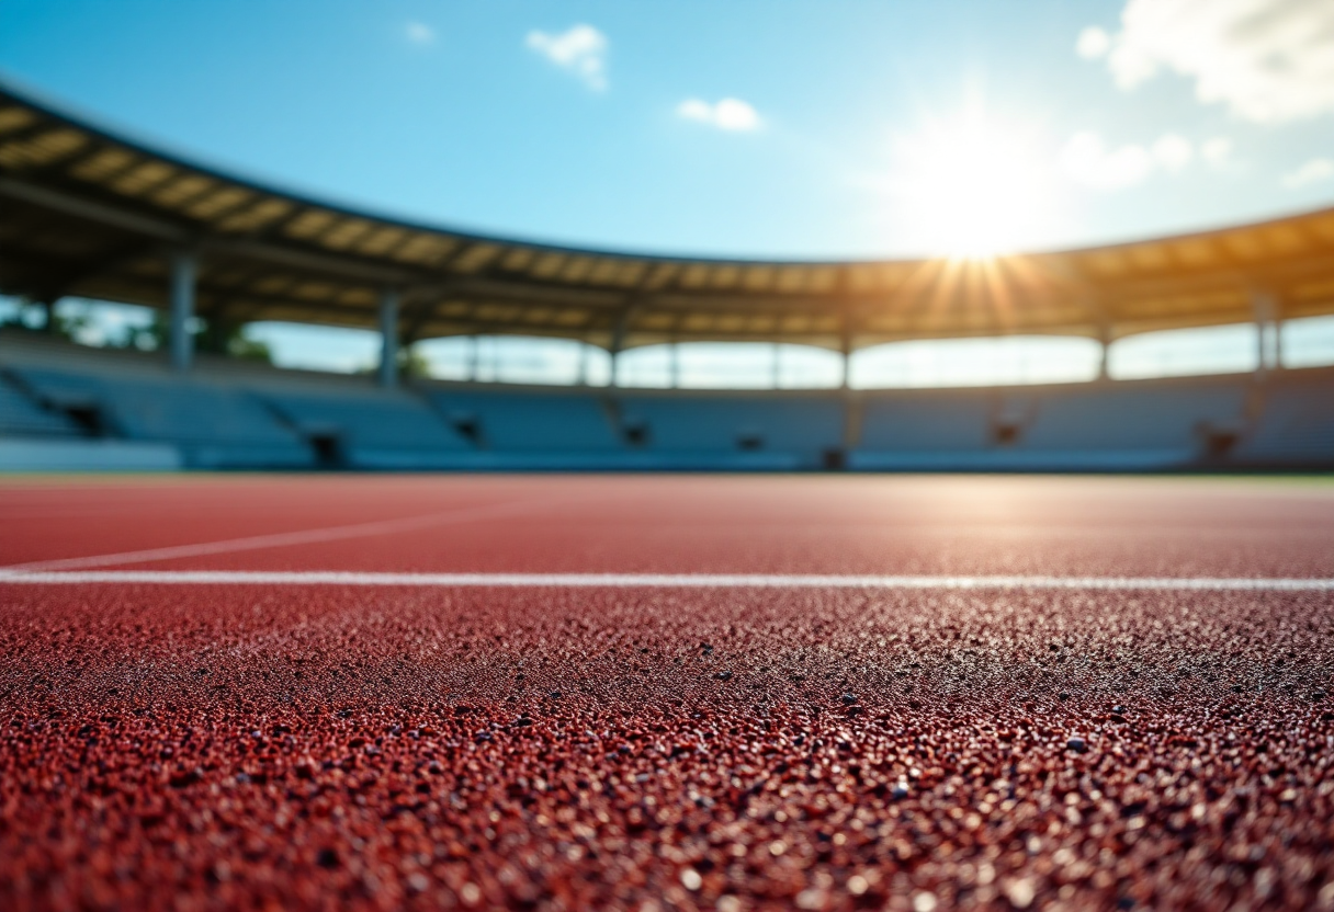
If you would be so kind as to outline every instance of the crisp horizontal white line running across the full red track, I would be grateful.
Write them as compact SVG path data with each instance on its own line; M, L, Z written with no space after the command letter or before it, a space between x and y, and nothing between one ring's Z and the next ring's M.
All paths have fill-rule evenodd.
M0 583L73 585L396 585L435 588L720 588L720 589L1157 589L1334 592L1334 579L1217 576L832 576L787 573L359 573L342 571L15 571Z

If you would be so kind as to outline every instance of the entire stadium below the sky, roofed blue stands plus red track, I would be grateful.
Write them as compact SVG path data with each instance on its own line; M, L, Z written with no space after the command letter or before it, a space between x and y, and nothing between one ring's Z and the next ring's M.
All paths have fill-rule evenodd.
M0 83L0 295L41 315L0 327L4 908L1334 908L1334 367L1283 349L1334 316L1334 208L651 256L334 204ZM73 299L160 347L63 336ZM376 365L208 341L263 321ZM1109 368L1238 325L1253 369ZM852 381L1019 336L1095 375ZM578 376L483 379L479 337ZM443 339L462 375L414 369ZM686 388L696 344L772 347L771 388ZM780 347L838 379L783 388Z

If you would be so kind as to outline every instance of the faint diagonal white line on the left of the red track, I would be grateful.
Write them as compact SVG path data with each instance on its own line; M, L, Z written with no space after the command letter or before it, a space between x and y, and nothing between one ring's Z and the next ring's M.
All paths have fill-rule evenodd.
M93 555L89 557L64 557L59 560L37 560L28 564L13 564L0 567L0 576L8 573L25 573L29 571L64 571L80 569L84 567L112 567L115 564L141 564L156 560L175 560L177 557L200 557L204 555L223 555L233 551L257 551L261 548L280 548L285 545L316 544L320 541L339 541L342 539L360 539L376 535L394 535L398 532L412 532L432 525L452 525L455 523L471 523L475 520L503 519L516 513L526 513L534 508L567 503L568 499L538 499L520 500L506 504L487 504L483 507L470 507L462 509L448 509L423 516L407 516L395 520L376 520L374 523L356 523L354 525L331 525L323 529L303 529L300 532L277 532L273 535L252 535L243 539L224 539L221 541L203 541L188 545L171 545L167 548L148 548L145 551L121 551L113 555Z

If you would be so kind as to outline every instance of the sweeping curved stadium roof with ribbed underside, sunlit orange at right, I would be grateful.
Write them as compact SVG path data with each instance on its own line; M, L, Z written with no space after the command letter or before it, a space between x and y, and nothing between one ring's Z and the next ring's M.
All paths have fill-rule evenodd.
M638 256L486 237L228 176L0 85L0 292L167 307L165 253L200 256L197 312L454 335L788 341L852 349L996 335L1118 339L1334 313L1334 209L1203 233L987 260Z

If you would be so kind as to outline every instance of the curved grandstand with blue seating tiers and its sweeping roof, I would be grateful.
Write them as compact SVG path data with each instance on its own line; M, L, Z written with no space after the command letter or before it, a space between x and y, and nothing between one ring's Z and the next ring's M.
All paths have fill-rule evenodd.
M578 251L391 221L239 180L0 87L0 293L164 309L165 355L0 329L0 465L1167 471L1334 467L1334 372L1263 340L1334 313L1334 211L978 261ZM195 316L378 328L375 377L196 355ZM644 391L399 376L403 345L547 336L840 352L1254 321L1254 373L862 391ZM1103 357L1106 365L1106 357ZM137 460L137 461L136 461Z

